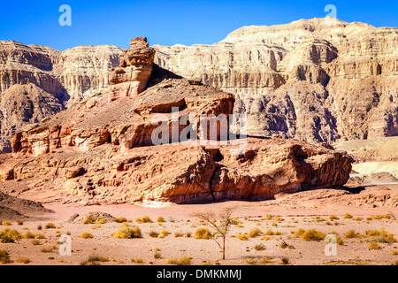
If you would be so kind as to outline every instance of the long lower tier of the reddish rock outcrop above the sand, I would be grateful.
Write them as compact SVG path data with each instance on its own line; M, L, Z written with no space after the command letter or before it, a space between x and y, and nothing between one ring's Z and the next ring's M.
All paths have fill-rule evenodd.
M11 177L0 178L22 180L21 184L28 180L28 189L19 194L35 199L46 191L48 203L269 199L280 192L341 187L351 171L343 152L284 139L249 139L241 156L231 155L229 146L160 145L120 151L108 143L85 152L69 147L12 159L2 160L2 166L10 166Z

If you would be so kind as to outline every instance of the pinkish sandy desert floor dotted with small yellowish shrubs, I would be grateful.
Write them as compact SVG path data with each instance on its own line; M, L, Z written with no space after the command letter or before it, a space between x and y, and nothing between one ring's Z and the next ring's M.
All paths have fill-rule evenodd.
M386 185L387 186L387 185ZM366 187L368 191L398 189L398 185ZM294 197L292 197L294 196ZM0 243L11 258L10 264L92 264L89 256L103 257L96 264L170 264L171 259L184 256L191 264L394 264L398 261L398 208L368 205L352 201L352 194L338 189L301 192L294 195L279 195L275 200L262 202L228 201L203 204L146 203L114 206L72 207L45 206L54 213L35 216L23 223L10 221L4 229L15 229L21 235L30 232L38 238L27 237ZM226 207L235 207L235 222L226 237L226 260L213 240L195 239L195 231L209 228L193 216L194 212L213 210L219 212ZM112 234L123 225L117 222L83 224L68 222L73 214L103 211L113 217L124 217L129 226L139 226L142 238L117 239ZM344 218L349 213L352 218ZM152 223L137 223L137 218L148 216ZM157 222L158 217L165 222ZM55 227L46 228L52 223ZM42 226L42 229L39 229ZM250 231L257 230L253 236ZM333 233L342 243L336 247L336 256L326 256L326 241L305 241L295 233L298 229L316 229L324 234ZM351 235L346 235L348 231ZM390 233L371 236L371 230ZM168 231L165 235L162 231ZM161 233L164 237L151 237L149 233ZM82 238L90 233L92 238ZM72 238L72 255L61 256L58 242L60 234ZM355 237L352 237L354 235ZM30 235L33 237L32 235ZM351 236L351 237L350 237ZM37 238L37 237L36 237ZM393 240L392 240L393 239ZM284 262L282 262L282 260Z

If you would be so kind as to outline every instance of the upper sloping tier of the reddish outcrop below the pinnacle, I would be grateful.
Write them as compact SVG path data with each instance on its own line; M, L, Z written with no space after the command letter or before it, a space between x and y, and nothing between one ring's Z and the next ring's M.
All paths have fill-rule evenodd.
M88 151L104 143L131 149L152 145L151 134L158 114L172 120L172 107L183 115L215 116L233 112L233 95L206 86L193 86L185 79L166 79L138 96L130 96L130 82L112 85L96 96L76 103L33 129L11 136L11 147L18 154L36 156L54 149L76 147ZM115 100L115 94L119 99ZM179 132L182 127L179 128ZM172 135L172 131L169 132Z

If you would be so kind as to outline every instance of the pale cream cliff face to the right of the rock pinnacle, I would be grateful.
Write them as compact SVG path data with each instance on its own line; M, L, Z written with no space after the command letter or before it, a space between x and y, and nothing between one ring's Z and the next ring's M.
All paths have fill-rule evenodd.
M308 142L398 134L398 28L301 19L241 27L212 45L153 47L158 65L235 94L249 134Z

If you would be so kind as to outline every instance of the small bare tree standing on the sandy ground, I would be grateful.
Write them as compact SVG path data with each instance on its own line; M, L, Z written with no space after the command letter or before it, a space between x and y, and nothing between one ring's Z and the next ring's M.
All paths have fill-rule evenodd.
M196 212L193 214L194 217L200 218L206 223L209 223L222 237L222 243L217 242L219 249L223 252L223 259L226 259L226 234L229 231L230 226L233 224L232 214L236 210L236 207L227 207L220 213L216 214L214 211Z

